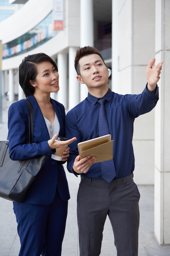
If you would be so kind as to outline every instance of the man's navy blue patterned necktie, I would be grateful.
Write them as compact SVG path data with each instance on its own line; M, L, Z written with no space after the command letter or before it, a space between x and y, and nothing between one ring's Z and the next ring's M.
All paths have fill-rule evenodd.
M110 134L108 120L104 108L105 99L98 99L99 109L99 137ZM113 159L101 162L101 176L107 182L111 182L116 177L115 164Z

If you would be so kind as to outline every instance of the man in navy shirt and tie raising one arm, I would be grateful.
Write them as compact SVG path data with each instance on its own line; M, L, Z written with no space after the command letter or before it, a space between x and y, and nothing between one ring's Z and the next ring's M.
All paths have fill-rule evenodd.
M138 254L140 195L132 178L135 166L133 123L136 117L152 110L159 99L157 82L163 62L153 67L154 63L155 58L152 58L146 69L148 83L141 94L120 95L108 88L108 69L97 49L82 47L76 53L77 80L86 84L88 97L68 112L66 137L77 137L70 149L67 168L69 172L81 175L77 195L80 256L99 256L107 215L113 227L117 255ZM103 134L101 101L105 101L107 133L114 139L112 167L109 161L102 162L110 179L107 181L103 164L95 163L95 156L80 159L77 150L77 143Z

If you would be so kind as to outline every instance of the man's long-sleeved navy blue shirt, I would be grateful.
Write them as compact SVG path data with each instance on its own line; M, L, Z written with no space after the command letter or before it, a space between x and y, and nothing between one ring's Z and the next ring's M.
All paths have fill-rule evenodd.
M103 97L109 130L113 142L113 159L117 178L130 175L135 168L132 147L133 123L136 117L152 110L159 99L158 87L154 92L146 88L141 94L121 95L108 92ZM81 141L99 137L98 114L100 105L96 97L88 93L88 97L80 102L66 115L66 137L77 137L70 145L70 156L67 161L69 172L73 172L73 163L78 155L77 144ZM86 177L102 179L100 163L93 164Z

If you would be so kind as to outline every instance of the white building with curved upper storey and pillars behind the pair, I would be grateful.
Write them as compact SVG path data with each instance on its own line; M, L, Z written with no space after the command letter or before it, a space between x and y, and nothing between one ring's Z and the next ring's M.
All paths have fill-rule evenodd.
M151 58L163 61L159 101L155 110L138 117L134 124L134 180L155 184L155 235L170 244L170 1L169 0L15 0L22 4L0 22L3 94L9 101L23 93L18 85L18 66L24 56L37 52L50 55L58 65L60 91L51 95L73 108L87 96L74 69L79 47L97 47L112 74L111 90L138 94L146 86L146 67ZM60 3L59 29L54 29ZM148 195L149 196L149 195Z

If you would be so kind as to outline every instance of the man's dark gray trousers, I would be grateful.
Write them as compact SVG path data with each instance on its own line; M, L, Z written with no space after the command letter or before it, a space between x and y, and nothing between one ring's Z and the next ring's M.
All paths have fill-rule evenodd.
M100 255L107 215L117 256L137 256L139 198L132 174L110 183L82 176L77 195L80 256Z

